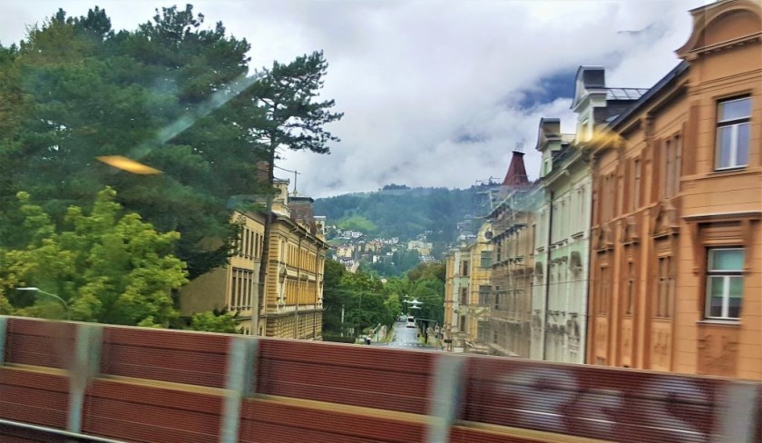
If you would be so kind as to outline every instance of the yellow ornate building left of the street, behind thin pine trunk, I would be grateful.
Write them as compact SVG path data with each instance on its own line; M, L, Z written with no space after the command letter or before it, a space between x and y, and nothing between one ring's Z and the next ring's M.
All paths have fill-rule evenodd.
M201 275L181 289L181 315L228 310L238 315L239 330L246 335L320 340L328 248L325 219L315 221L312 199L288 194L288 181L278 180L275 186L266 293L259 298L257 284L265 247L264 215L234 212L233 221L241 226L236 252L228 266ZM259 315L259 322L252 321L254 315ZM254 330L255 324L259 331Z

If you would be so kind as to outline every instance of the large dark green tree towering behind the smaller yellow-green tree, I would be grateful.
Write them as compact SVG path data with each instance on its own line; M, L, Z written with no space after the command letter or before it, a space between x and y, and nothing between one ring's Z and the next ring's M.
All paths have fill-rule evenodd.
M56 222L109 185L159 231L180 231L190 277L224 264L235 227L230 197L259 191L249 128L253 106L232 98L253 81L250 46L191 5L163 8L135 31L112 31L94 8L59 10L19 48L0 50L0 245L17 238L16 192ZM7 117L7 118L6 118ZM97 162L123 155L161 170L136 176ZM219 238L206 248L203 239Z

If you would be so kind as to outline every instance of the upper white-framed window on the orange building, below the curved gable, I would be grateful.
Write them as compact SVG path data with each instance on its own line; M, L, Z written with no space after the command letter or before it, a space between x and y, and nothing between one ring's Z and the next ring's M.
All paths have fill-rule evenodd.
M751 98L718 103L715 169L742 168L748 162Z

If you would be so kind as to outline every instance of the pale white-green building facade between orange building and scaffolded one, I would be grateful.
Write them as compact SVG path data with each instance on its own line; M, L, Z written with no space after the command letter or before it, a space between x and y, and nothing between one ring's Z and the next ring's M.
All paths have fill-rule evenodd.
M536 232L532 359L583 363L591 174L588 154L573 139L561 133L559 119L541 120L537 150L545 160L535 191L540 204L532 226Z

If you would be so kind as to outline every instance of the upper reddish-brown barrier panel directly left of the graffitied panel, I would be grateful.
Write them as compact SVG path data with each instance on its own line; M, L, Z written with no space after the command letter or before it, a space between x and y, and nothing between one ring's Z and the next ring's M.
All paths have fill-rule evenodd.
M434 353L260 340L257 392L425 414Z

